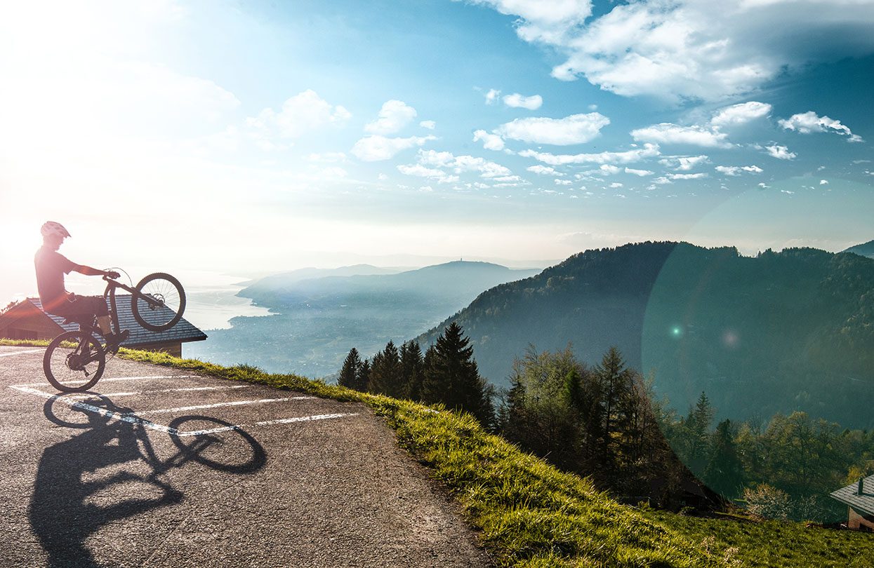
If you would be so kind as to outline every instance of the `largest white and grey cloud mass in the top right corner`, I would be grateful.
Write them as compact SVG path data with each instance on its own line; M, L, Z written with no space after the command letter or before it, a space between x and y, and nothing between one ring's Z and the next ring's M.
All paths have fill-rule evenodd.
M473 1L520 17L519 38L564 53L553 77L582 75L625 96L725 99L753 92L787 67L865 55L874 46L874 10L864 0L791 9L780 0L642 0L614 3L593 18L587 0Z

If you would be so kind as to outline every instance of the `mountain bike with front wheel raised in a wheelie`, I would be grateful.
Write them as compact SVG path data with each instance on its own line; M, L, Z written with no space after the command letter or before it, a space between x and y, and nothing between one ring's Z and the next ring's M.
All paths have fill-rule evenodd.
M163 272L149 274L136 286L103 277L107 283L103 298L109 302L109 315L116 332L121 332L115 291L130 293L130 309L137 324L150 332L165 332L177 325L185 311L185 291L179 281ZM101 345L96 317L71 317L65 323L79 324L79 330L63 332L49 344L43 356L45 378L64 392L87 391L97 384L113 351Z

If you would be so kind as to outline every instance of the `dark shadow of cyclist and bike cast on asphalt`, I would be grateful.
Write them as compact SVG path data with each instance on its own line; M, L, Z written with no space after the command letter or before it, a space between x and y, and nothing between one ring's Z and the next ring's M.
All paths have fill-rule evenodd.
M252 474L267 462L260 443L239 429L234 430L234 435L249 446L250 457L246 462L225 463L205 457L205 449L219 441L215 435L192 436L191 443L174 436L177 454L161 460L142 424L94 411L98 407L117 416L130 413L129 408L117 407L103 396L99 399L99 402L87 400L93 410L73 406L87 416L87 423L63 421L52 412L54 399L45 403L44 413L50 421L83 429L81 434L45 448L39 460L29 512L31 528L48 553L49 566L98 566L85 543L101 527L181 503L184 494L159 477L168 469L194 461L218 471ZM184 416L171 422L170 427L176 428L184 421L231 426L211 417ZM138 461L147 464L148 473L131 471L142 471ZM146 490L143 483L147 484ZM128 489L131 487L139 489ZM121 498L112 498L114 495Z

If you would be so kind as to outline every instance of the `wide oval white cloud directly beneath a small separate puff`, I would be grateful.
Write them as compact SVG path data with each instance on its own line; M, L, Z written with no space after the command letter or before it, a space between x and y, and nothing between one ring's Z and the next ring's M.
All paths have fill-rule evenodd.
M516 119L497 127L495 132L512 140L564 146L593 140L608 124L610 119L600 113L572 114L564 119Z

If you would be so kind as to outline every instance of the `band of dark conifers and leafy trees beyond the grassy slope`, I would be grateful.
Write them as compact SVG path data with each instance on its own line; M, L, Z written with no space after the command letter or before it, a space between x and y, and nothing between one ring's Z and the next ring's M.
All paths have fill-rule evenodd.
M580 361L570 346L530 346L515 359L510 387L479 375L460 325L423 354L389 342L372 359L356 349L339 383L473 414L483 426L560 469L589 476L628 503L677 510L742 507L767 518L834 523L846 512L829 493L874 473L874 432L842 428L803 412L766 420L717 421L707 393L683 413L657 398L615 347Z

